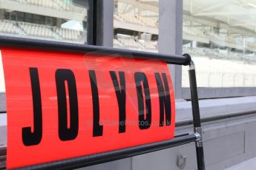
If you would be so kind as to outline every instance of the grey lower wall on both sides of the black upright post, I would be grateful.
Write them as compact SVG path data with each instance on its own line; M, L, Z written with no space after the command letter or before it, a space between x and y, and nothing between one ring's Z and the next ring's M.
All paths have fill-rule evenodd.
M255 126L256 115L203 123L206 169L225 169L241 163L246 160L247 153L256 157L255 135L246 134L253 131ZM188 131L191 131L191 126L181 126L177 128L176 134ZM252 149L251 153L250 149ZM179 169L177 167L179 154L187 157L185 169L197 169L193 144L134 157L133 169Z

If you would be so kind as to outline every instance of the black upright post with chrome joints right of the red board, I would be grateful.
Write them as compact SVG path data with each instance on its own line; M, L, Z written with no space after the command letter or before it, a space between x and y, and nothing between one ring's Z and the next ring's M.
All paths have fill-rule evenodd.
M185 55L190 58L190 55L188 54L185 54ZM196 142L197 169L205 170L200 110L199 110L198 95L197 95L197 78L196 78L194 62L192 60L191 60L191 64L189 65L188 75L189 75L189 84L190 84L190 91L191 91L191 105L192 105L194 132L197 133L197 135L200 135L200 140L197 140Z

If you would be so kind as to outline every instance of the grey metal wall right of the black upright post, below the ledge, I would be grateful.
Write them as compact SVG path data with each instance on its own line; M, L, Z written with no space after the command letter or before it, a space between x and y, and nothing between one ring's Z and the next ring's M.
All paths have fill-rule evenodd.
M217 138L226 137L226 141L223 140L222 144L219 143L219 148L217 148L217 146L214 147L214 145L207 146L206 141L206 144L204 145L204 149L206 151L206 163L209 163L209 161L213 161L214 157L218 157L218 155L216 154L223 154L220 155L220 157L222 157L223 159L220 159L219 162L211 163L210 165L206 164L207 169L225 169L226 167L233 166L248 159L246 158L247 154L249 154L250 150L255 150L256 147L255 143L252 143L252 138L255 138L255 135L247 134L247 132L250 132L252 130L252 127L249 126L249 124L251 126L256 126L255 115L249 115L240 118L231 118L227 120L219 120L217 122L204 124L204 140L216 140ZM243 132L244 135L242 135ZM235 137L235 134L237 134L237 137ZM230 151L229 149L230 147L233 147L233 145L236 145L236 147L234 147L234 149ZM226 151L227 148L229 151ZM209 152L212 152L213 154L209 154ZM232 153L233 155L230 153ZM256 153L251 154L251 156L256 157Z

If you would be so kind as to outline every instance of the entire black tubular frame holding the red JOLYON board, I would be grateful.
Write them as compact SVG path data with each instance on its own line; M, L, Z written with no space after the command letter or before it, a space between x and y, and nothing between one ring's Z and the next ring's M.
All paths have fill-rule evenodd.
M138 52L134 50L120 50L110 47L96 47L84 44L70 44L54 41L42 41L28 38L13 38L0 36L1 47L19 47L38 50L55 50L64 52L93 53L95 55L112 55L122 58L142 58L152 61L164 61L167 64L190 65L189 81L191 89L191 103L193 112L194 134L180 135L173 140L164 140L157 143L149 143L142 146L134 146L125 149L103 152L100 154L91 154L84 157L74 157L68 160L59 160L51 163L43 163L35 166L22 167L22 169L75 169L79 167L92 166L99 163L105 163L112 160L119 160L125 157L132 157L139 154L154 152L161 149L167 149L174 146L184 145L195 142L197 148L197 167L204 170L203 158L203 140L201 134L200 112L197 96L197 81L194 70L194 63L191 56L185 55L163 55L153 52Z

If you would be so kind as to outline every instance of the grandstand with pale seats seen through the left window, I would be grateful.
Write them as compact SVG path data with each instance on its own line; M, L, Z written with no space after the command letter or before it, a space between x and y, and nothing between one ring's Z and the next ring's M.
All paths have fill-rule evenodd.
M63 26L63 24L67 25L68 21L85 22L86 3L85 1L84 4L76 2L4 0L5 6L0 7L0 35L85 44L86 30L82 25L78 28L71 27L71 24L68 28ZM19 6L24 8L16 9Z

